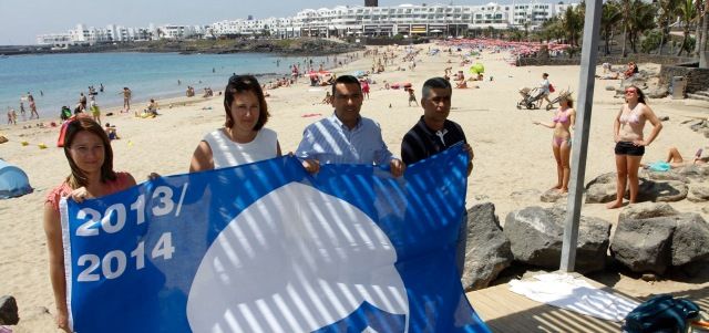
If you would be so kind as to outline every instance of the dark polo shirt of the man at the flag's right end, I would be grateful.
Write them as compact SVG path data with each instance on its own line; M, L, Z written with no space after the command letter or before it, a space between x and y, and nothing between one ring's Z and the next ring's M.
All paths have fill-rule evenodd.
M460 142L467 143L465 133L459 124L445 121L443 129L436 134L425 125L423 116L421 116L419 122L403 136L401 158L408 166L439 154Z

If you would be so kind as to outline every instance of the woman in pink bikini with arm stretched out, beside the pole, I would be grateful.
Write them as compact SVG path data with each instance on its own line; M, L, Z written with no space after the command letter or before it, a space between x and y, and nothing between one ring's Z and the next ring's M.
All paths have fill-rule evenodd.
M554 129L552 152L554 152L554 159L556 159L556 185L553 188L558 189L559 192L568 192L568 176L571 174L568 159L572 153L569 128L576 123L576 111L573 103L569 95L563 95L552 123L534 122L535 125Z

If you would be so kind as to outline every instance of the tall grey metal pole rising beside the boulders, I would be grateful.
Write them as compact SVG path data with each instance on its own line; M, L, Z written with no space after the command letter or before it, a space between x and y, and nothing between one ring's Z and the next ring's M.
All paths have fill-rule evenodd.
M596 59L598 58L598 39L600 31L600 13L603 0L586 2L584 22L584 43L580 56L580 73L578 80L578 110L574 146L572 148L571 179L568 201L566 206L566 222L564 225L564 242L562 244L561 271L572 272L576 263L576 246L578 242L578 225L580 206L584 194L584 177L586 174L586 152L588 149L588 133L590 129L590 114L594 101L596 74Z

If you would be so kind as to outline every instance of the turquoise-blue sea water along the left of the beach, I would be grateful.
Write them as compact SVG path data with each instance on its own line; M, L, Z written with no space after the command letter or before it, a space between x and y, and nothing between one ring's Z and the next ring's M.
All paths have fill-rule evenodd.
M316 69L322 63L330 67L333 58L279 56L273 53L239 54L177 54L177 53L76 53L18 55L0 59L0 110L7 114L13 107L20 117L20 97L28 92L34 96L43 118L58 117L62 105L74 108L79 94L88 94L89 86L104 93L96 95L101 107L122 106L122 91L133 92L131 108L143 108L150 98L184 96L187 85L199 97L204 87L223 90L228 77L237 74L259 74L267 83L275 76L290 74L289 65L312 60ZM260 75L265 74L265 75ZM182 82L177 84L177 80ZM24 108L29 116L29 105ZM2 117L4 124L4 117Z

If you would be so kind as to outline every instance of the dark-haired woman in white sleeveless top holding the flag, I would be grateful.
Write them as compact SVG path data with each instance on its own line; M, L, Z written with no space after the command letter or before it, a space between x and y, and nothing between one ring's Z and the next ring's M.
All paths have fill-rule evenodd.
M233 75L224 93L224 127L207 134L192 155L189 171L237 166L280 156L276 132L264 128L268 106L251 75Z

